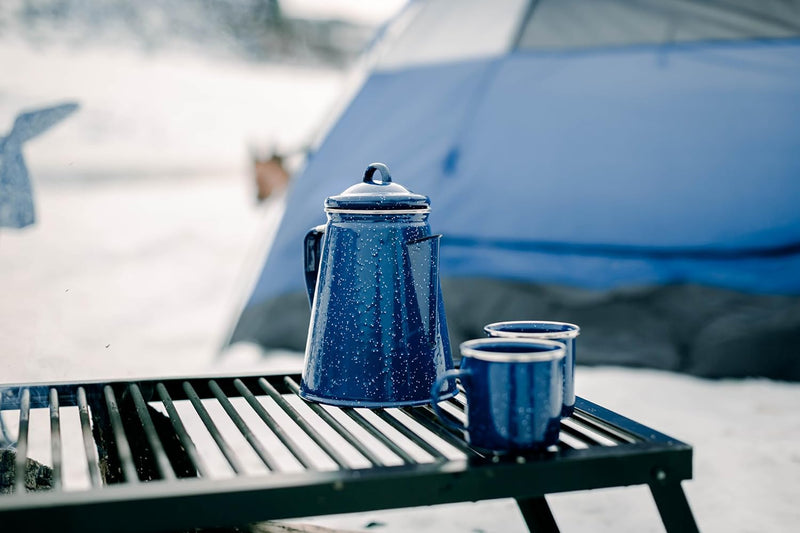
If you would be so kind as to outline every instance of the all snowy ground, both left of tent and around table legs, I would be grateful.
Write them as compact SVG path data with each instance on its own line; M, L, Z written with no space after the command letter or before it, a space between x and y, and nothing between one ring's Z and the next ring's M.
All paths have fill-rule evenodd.
M246 147L302 142L340 73L8 41L0 72L0 134L22 107L82 106L25 149L37 224L0 228L0 382L299 364L246 346L217 358L283 208L254 203ZM579 368L577 390L694 446L684 487L703 531L799 527L800 384ZM642 487L550 501L563 531L662 530ZM525 531L507 500L313 521Z

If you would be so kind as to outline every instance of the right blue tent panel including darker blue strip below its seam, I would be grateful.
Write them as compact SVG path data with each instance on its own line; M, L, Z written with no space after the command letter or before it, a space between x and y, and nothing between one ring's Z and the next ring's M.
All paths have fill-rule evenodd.
M509 56L441 196L443 268L800 294L799 58L798 41ZM458 206L476 186L497 214L480 224Z

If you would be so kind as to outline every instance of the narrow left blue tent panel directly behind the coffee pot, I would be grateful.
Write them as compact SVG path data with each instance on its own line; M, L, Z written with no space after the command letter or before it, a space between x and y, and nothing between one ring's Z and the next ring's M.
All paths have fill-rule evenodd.
M399 183L435 198L430 189L439 180L431 162L441 167L453 132L469 111L469 89L480 84L486 68L485 61L437 67L440 83L431 82L428 69L370 78L303 173L293 180L286 200L291 215L281 221L250 302L302 288L302 276L294 268L302 263L294 261L301 257L303 236L310 227L325 222L325 198L358 181L369 162L388 164ZM426 90L415 98L413 108L391 105L422 86ZM412 131L409 125L414 125ZM435 211L437 200L433 202Z

